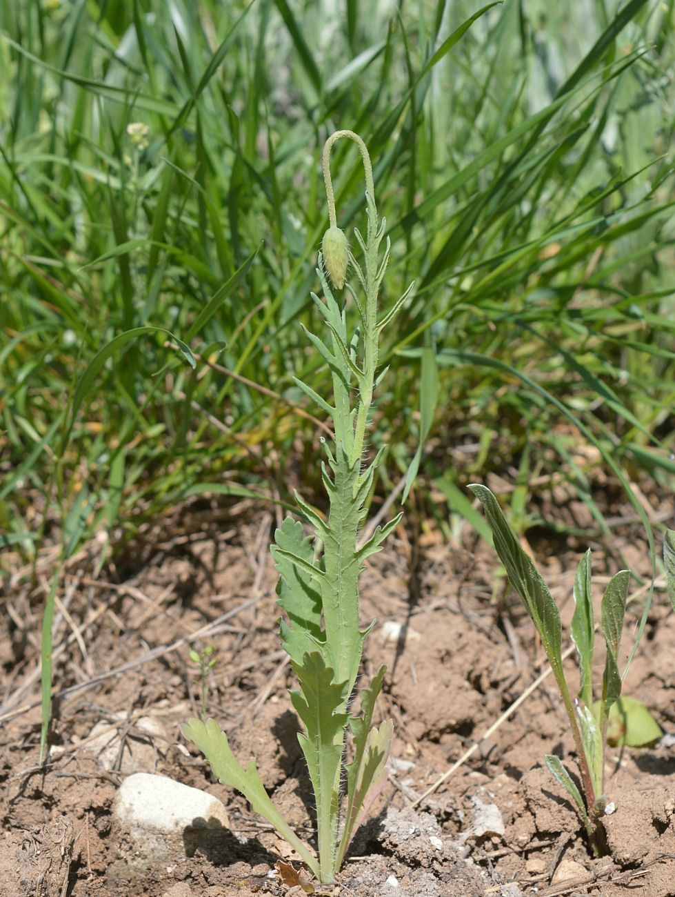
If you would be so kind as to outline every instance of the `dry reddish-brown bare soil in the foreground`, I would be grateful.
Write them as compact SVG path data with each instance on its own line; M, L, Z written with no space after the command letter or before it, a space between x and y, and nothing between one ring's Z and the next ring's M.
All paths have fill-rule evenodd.
M624 522L610 540L590 539L597 597L624 563L638 576L650 572L632 509L619 493L608 489L605 498L608 516ZM591 525L584 507L566 495L551 493L547 501L547 515L558 523ZM657 518L672 514L672 506L651 501ZM35 586L14 564L0 619L2 897L306 893L300 884L289 891L275 871L280 858L292 860L289 849L242 797L212 778L179 731L201 709L188 650L212 644L209 715L242 761L255 755L265 787L311 841L311 799L288 697L292 675L276 632L269 555L275 525L259 511L255 517L246 507L202 501L150 528L100 572L100 546L74 559L56 608L54 723L44 767L39 621L49 559ZM529 536L561 606L567 646L575 566L589 540L543 528ZM675 895L672 749L610 749L610 855L593 859L577 814L543 766L544 753L558 753L575 769L551 679L483 738L544 668L532 624L489 546L470 532L446 544L433 528L413 536L401 527L362 584L363 620L377 619L364 673L388 666L377 713L394 719L393 758L372 819L325 893ZM645 598L637 579L632 589L638 595L627 648ZM673 645L675 615L657 591L624 688L645 701L666 732L675 718ZM567 663L575 676L573 659ZM419 800L472 745L478 747L468 761ZM119 783L133 771L158 772L220 797L231 831L191 856L144 856L111 814ZM324 893L318 885L316 893Z

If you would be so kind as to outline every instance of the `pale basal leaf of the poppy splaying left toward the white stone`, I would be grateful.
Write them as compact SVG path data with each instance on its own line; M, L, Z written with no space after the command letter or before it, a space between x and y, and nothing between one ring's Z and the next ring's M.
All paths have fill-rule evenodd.
M232 753L228 736L221 731L214 719L207 719L205 723L199 719L190 719L182 727L183 735L189 741L195 742L195 745L206 757L209 766L211 766L213 775L230 788L236 788L248 803L253 807L255 813L260 814L268 823L274 826L281 837L287 840L290 846L297 850L299 856L307 863L314 875L319 874L319 867L316 858L307 849L306 845L299 840L299 837L290 828L290 825L284 820L276 806L264 789L263 782L260 779L255 760L248 762L247 768L241 766Z

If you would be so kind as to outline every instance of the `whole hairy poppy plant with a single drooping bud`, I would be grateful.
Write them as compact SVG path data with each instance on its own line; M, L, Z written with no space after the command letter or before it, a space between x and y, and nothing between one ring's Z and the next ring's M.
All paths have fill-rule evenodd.
M365 170L366 239L354 231L363 253L363 266L351 255L335 217L329 163L333 143L340 137L349 137L358 144ZM313 528L313 536L305 536L303 525L289 517L276 531L272 548L280 576L278 603L284 613L281 643L299 681L299 688L290 692L290 697L304 727L299 742L316 798L318 858L273 805L255 768L255 760L244 769L214 720L204 724L191 719L183 730L205 754L221 782L247 797L254 810L297 850L316 877L329 884L342 865L361 819L384 785L385 762L392 738L391 722L373 726L373 710L382 687L384 666L361 693L360 715L352 712L350 699L359 675L363 643L372 628L372 624L365 629L359 625L359 575L363 562L380 550L385 537L401 518L398 515L385 527L377 527L364 544L359 544L359 530L367 516L368 493L381 457L380 452L368 463L365 445L374 391L385 374L384 370L379 374L376 370L378 340L383 328L401 309L412 284L382 317L378 316L377 295L385 276L390 243L387 238L385 251L380 256L385 220L380 220L377 214L370 157L358 135L337 131L327 140L324 176L330 227L325 232L316 270L324 298L319 299L313 293L312 299L324 319L328 338L306 333L331 372L332 402L301 380L295 382L333 421L333 445L322 440L326 455L323 482L329 512L327 519L323 518L296 493L299 512ZM341 290L349 265L363 291L361 300L350 283L346 284L353 301L353 316L358 318L358 326L351 332L346 300L339 302L328 283L329 277L333 288ZM350 745L347 745L348 731Z

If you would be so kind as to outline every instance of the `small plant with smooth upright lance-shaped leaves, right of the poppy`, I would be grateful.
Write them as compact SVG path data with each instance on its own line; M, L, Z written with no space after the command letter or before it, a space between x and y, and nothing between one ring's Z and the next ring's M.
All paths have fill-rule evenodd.
M557 756L547 754L546 765L558 784L565 788L575 801L593 853L601 855L606 852L601 818L607 807L604 792L607 726L610 708L619 701L621 693L619 643L626 614L628 571L621 570L612 577L602 596L600 629L605 641L606 658L600 697L597 701L593 701L595 624L591 598L590 549L579 562L574 585L575 613L572 618L572 640L579 658L580 683L577 697L573 700L563 669L560 614L549 588L541 579L532 559L524 552L492 492L487 487L477 484L469 488L482 502L494 537L495 550L506 567L511 585L523 599L541 638L541 645L549 658L572 729L584 796L582 797L579 788Z

